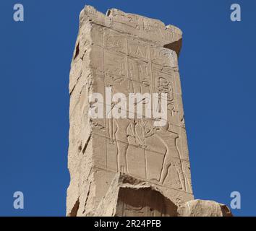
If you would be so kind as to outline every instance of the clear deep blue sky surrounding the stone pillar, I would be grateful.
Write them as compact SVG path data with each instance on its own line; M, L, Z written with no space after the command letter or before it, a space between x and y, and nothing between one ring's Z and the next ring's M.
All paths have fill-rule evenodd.
M25 7L14 22L13 6ZM242 7L231 22L230 6ZM256 1L1 0L0 215L64 216L69 184L69 67L80 10L117 8L184 32L182 77L192 184L197 199L256 216ZM25 209L12 206L14 191Z

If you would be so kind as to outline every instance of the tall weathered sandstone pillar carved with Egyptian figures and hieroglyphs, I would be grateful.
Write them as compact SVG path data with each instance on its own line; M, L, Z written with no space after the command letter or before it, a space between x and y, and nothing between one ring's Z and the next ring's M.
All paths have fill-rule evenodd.
M157 19L118 9L104 15L92 6L80 13L69 80L68 216L174 216L174 208L194 199L178 66L181 45L182 31ZM90 102L93 93L103 96L98 110ZM127 107L116 110L123 118L111 116L119 104L109 95L116 93L127 99ZM149 93L132 104L135 118L129 93ZM137 110L139 103L153 105L154 93L167 94L163 126L155 126L159 118L153 106ZM90 116L90 110L101 109L103 118ZM116 202L104 213L109 198Z

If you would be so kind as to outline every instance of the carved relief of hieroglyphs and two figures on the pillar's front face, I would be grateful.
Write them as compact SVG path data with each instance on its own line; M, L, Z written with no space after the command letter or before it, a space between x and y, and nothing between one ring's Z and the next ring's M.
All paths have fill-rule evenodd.
M111 86L113 94L167 93L168 122L155 128L153 119L106 118L104 133L95 129L95 134L105 136L101 139L106 143L99 152L105 153L106 161L98 165L191 192L189 159L183 154L187 140L181 132L184 118L181 90L176 83L176 53L104 28L102 59L104 85Z

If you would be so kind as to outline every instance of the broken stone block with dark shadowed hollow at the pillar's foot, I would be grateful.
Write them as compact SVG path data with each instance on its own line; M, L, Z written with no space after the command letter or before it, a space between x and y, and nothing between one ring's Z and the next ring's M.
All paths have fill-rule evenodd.
M116 174L94 215L176 217L177 206L149 183L129 175Z

